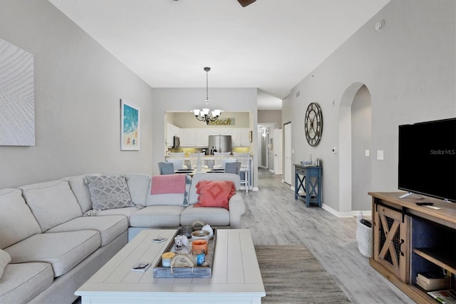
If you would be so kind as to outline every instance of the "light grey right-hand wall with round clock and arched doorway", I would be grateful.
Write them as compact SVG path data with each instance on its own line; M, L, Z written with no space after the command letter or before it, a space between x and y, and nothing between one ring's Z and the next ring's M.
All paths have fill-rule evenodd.
M385 28L377 32L380 19ZM344 96L347 89L365 84L371 92L372 152L385 155L384 161L372 161L372 190L397 191L398 125L456 116L455 37L454 0L390 1L284 99L282 121L292 121L293 162L310 154L321 158L326 206L351 212L351 202L342 197L347 188L351 191L351 176L339 172L346 161L340 150L349 136L339 136L341 106L357 91ZM304 137L304 113L311 102L323 111L323 137L316 147ZM332 147L341 149L333 154Z

